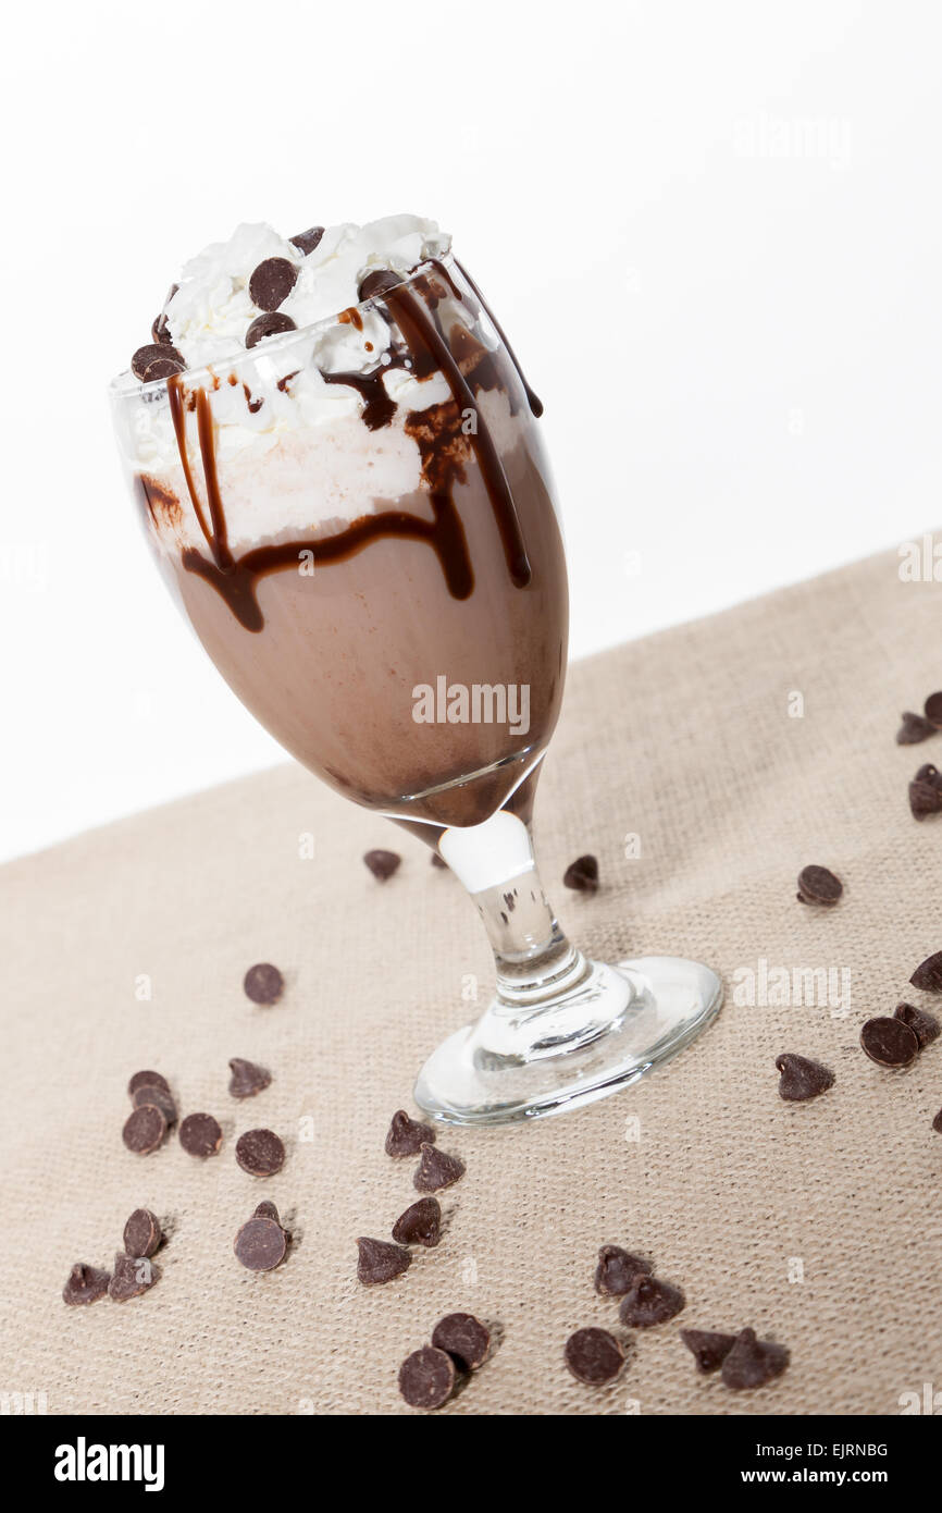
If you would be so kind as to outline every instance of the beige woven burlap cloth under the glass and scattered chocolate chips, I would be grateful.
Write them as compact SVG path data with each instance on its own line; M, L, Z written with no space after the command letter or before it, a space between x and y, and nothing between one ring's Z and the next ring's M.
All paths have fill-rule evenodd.
M593 953L708 961L727 1002L615 1097L445 1130L467 1162L443 1195L448 1233L386 1288L357 1285L354 1238L389 1235L414 1197L413 1162L383 1151L389 1117L470 1017L463 976L488 985L457 881L298 767L3 868L0 1387L45 1393L50 1413L411 1412L399 1362L455 1309L499 1324L499 1348L445 1413L892 1415L942 1387L942 1041L903 1073L859 1047L869 1015L931 1003L907 979L942 947L942 817L919 825L907 806L942 735L894 743L900 710L942 685L940 592L880 557L572 670L537 802L550 896ZM360 859L370 846L404 853L384 887ZM596 897L561 885L585 850ZM836 909L795 902L806 862L842 876ZM257 959L289 977L277 1008L242 994ZM832 1002L765 1002L776 968L830 968ZM821 1058L835 1088L783 1103L782 1050ZM230 1056L274 1073L253 1103L227 1092ZM219 1156L122 1147L141 1067L183 1112L219 1117ZM233 1156L257 1124L289 1150L271 1180ZM253 1275L231 1242L263 1197L295 1245ZM169 1230L157 1286L67 1309L70 1265L109 1263L138 1204ZM621 1330L593 1291L603 1242L647 1251L683 1315ZM605 1389L562 1365L587 1324L627 1347ZM791 1368L733 1393L697 1375L680 1324L750 1324Z

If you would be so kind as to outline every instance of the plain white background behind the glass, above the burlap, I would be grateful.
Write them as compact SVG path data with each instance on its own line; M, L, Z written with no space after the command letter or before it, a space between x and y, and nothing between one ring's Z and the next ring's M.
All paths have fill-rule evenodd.
M0 855L280 760L153 570L104 401L240 219L454 233L546 401L573 655L930 528L939 15L12 8Z

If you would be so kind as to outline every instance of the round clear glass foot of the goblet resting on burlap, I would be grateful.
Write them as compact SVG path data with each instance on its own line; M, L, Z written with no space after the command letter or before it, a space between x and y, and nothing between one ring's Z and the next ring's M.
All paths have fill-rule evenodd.
M594 1103L682 1050L723 1003L715 971L640 956L584 977L549 1005L496 999L425 1062L416 1103L445 1124L510 1124Z

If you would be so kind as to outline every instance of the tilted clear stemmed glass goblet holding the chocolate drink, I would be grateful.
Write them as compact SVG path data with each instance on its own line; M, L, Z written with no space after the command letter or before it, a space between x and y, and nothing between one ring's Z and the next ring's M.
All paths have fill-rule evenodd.
M531 838L569 628L541 405L451 256L383 283L213 368L122 375L112 407L222 676L298 761L435 847L484 921L494 997L432 1052L419 1108L532 1118L665 1061L721 985L671 956L588 961L559 929ZM325 371L330 327L360 333L355 372Z

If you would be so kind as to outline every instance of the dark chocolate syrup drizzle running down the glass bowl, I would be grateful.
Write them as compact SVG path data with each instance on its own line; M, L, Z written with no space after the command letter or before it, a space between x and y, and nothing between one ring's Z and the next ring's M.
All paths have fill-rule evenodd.
M455 286L445 265L434 260L434 266L446 280L455 298L463 300L464 297L461 290ZM467 278L475 297L479 300L481 306L490 316L494 330L500 336L500 340L504 342L507 353L517 369L532 413L535 416L541 415L543 405L528 386L517 359L497 325L497 321L488 310L478 287L472 283L464 269L461 269L461 272L463 277ZM416 287L420 290L422 300L419 300L413 290L407 287L407 284L389 289L383 295L383 301L390 313L395 315L396 324L405 342L405 346L393 348L389 363L380 366L373 374L343 372L324 374L322 377L325 383L343 383L354 387L364 402L361 416L363 422L369 430L380 430L381 427L390 424L396 412L396 404L387 395L383 383L387 372L393 368L405 366L410 366L417 378L428 377L435 371L435 368L443 372L458 410L470 410L475 415L476 430L467 436L467 440L470 442L478 458L481 475L494 511L494 520L500 534L511 583L516 587L523 589L531 581L531 566L513 493L500 464L500 457L497 455L497 449L484 416L475 404L472 386L467 383L460 365L455 362L455 357L442 334L438 322L431 313L438 303L435 290L431 287L428 278L416 280ZM357 312L354 312L354 315L355 313ZM337 531L334 536L311 540L283 542L272 546L257 546L243 552L240 557L233 557L228 546L225 508L219 490L212 405L207 392L203 387L198 387L195 390L197 437L203 463L206 502L209 505L207 520L195 487L189 460L186 436L187 407L184 404L186 390L181 383L183 377L184 375L181 374L169 377L166 389L174 433L177 437L177 448L180 451L180 461L183 466L183 477L186 480L186 487L189 490L197 520L210 555L207 558L203 552L197 551L197 548L187 546L181 554L181 560L187 572L204 578L219 595L222 595L228 608L246 631L257 632L262 631L265 625L265 617L259 607L256 592L260 578L287 567L296 567L298 563L307 557L307 554L310 554L316 566L324 566L331 561L345 561L369 546L370 542L387 537L426 542L438 557L449 593L455 599L469 598L475 587L475 575L467 549L464 527L452 498L454 483L455 478L461 475L461 468L454 460L443 461L442 458L437 458L437 464L429 468L437 442L442 440L445 445L449 440L449 437L445 436L445 427L442 428L440 436L435 436L431 443L426 446L420 445L423 454L423 475L429 481L429 499L432 505L431 520L410 514L407 510L384 510L380 514L364 514L360 519L352 520L343 531ZM414 412L414 419L419 422L426 413L428 412ZM426 455L426 452L429 455ZM431 486L432 477L435 486Z

